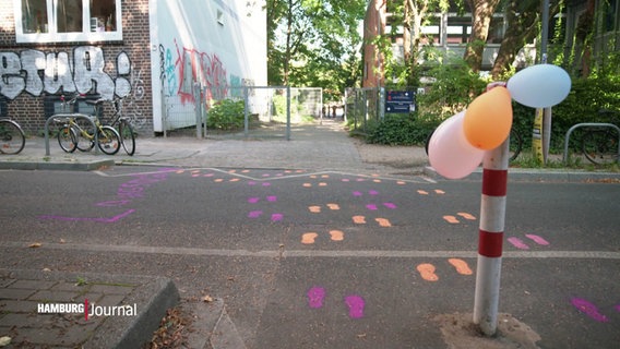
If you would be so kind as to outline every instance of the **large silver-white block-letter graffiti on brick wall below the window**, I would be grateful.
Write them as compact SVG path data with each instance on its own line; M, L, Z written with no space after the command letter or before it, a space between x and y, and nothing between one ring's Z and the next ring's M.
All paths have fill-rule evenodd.
M69 52L24 50L20 53L0 52L0 94L14 99L26 92L40 96L43 92L57 94L98 93L105 99L115 94L127 97L131 93L131 61L126 52L116 60L118 75L105 72L104 51L96 46L78 46Z

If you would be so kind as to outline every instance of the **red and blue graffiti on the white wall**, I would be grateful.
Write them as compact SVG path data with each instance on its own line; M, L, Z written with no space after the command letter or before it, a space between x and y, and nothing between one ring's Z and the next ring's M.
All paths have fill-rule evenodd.
M175 40L175 51L159 46L159 79L168 96L178 95L182 103L193 103L196 83L206 87L207 100L227 96L226 69L217 55L180 48Z

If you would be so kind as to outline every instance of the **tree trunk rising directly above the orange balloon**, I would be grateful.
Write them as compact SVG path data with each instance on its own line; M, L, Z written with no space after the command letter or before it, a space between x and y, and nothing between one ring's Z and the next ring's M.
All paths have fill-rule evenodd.
M479 72L482 65L482 53L487 44L491 17L500 0L467 0L472 9L472 35L463 59L467 65Z

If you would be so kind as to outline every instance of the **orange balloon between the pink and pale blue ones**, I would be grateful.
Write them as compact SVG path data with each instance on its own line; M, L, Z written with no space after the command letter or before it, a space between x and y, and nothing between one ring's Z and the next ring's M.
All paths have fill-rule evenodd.
M512 103L505 87L494 87L478 96L465 111L465 137L479 149L490 151L500 146L511 128Z

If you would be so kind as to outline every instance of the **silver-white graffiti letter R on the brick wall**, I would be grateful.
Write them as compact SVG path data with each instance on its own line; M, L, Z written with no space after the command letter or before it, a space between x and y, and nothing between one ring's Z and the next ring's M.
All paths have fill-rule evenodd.
M115 82L104 72L104 51L95 46L81 46L73 51L75 64L74 82L78 92L85 94L96 91L105 99L112 99Z

